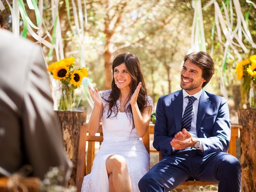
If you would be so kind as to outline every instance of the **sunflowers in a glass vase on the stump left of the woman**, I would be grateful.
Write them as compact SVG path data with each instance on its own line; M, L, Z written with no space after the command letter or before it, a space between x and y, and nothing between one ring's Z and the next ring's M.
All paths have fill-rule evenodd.
M81 85L82 79L88 76L86 68L75 69L75 58L65 58L50 64L48 72L61 82L58 91L58 110L72 110L74 90Z

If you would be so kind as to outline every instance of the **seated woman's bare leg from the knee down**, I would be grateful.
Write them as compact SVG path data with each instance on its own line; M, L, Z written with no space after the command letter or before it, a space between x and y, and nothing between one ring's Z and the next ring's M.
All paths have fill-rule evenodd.
M126 159L120 155L111 155L106 160L108 177L112 174L112 184L115 192L131 192L132 184L128 173Z

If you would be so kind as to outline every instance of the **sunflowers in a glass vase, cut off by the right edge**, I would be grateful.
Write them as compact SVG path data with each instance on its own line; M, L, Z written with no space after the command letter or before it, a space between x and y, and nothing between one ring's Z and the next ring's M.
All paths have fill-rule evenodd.
M249 94L250 106L256 107L256 55L236 65L236 76L238 80L243 79L243 90Z

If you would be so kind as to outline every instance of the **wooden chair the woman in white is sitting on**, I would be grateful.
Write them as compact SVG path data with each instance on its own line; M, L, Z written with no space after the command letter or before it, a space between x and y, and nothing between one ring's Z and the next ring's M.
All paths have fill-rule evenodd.
M102 124L100 124L96 136L88 135L87 126L88 123L84 123L80 128L76 171L76 187L78 192L81 191L84 176L91 172L92 162L95 156L95 142L100 142L101 144L103 141ZM86 141L88 142L87 153ZM144 143L144 146L149 153L149 129L143 136L142 142Z

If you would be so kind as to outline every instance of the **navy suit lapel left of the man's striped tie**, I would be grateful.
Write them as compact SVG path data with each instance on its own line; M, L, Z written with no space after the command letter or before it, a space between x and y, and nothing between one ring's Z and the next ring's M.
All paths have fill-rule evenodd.
M183 94L182 90L178 92L178 95L175 97L172 102L173 112L174 112L174 119L175 119L175 126L176 132L180 131L181 127L181 118L182 118L182 108L183 108Z

